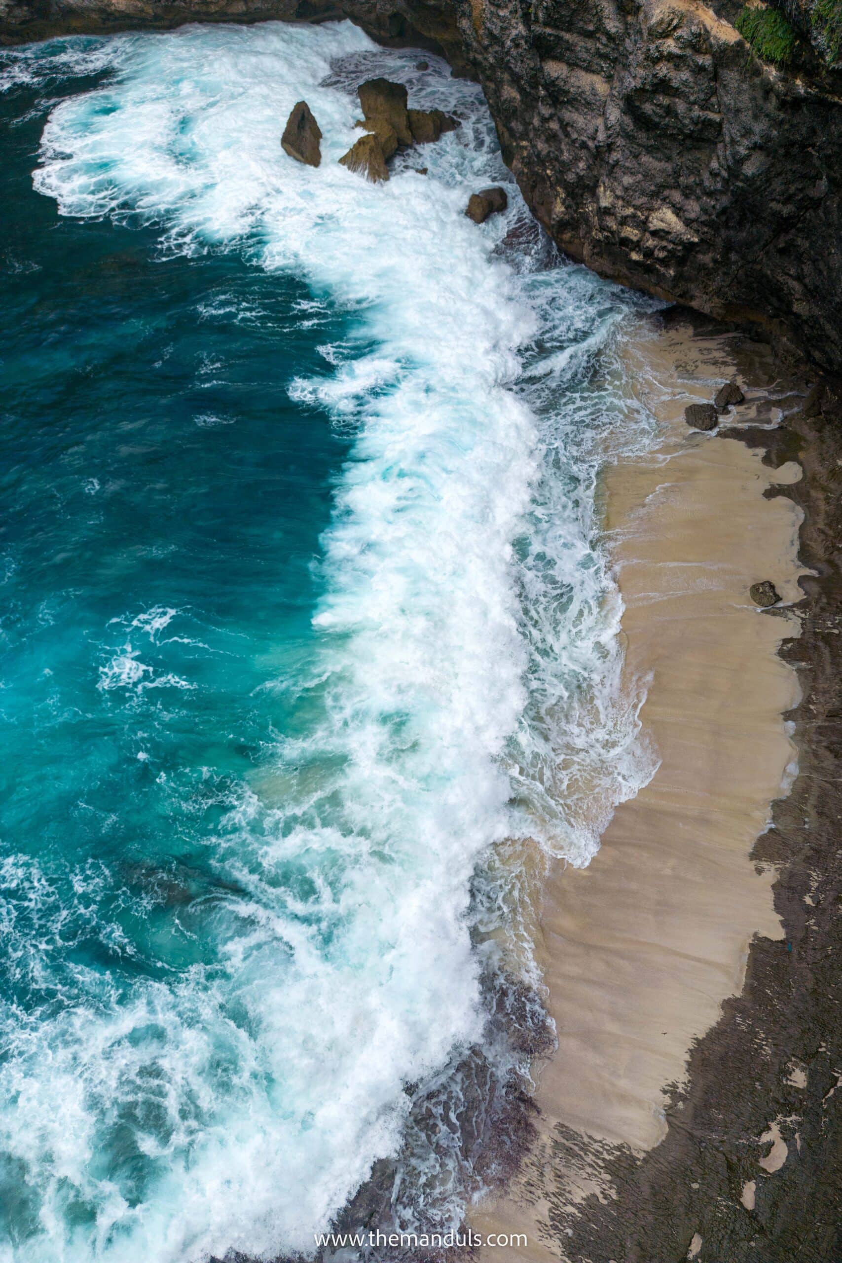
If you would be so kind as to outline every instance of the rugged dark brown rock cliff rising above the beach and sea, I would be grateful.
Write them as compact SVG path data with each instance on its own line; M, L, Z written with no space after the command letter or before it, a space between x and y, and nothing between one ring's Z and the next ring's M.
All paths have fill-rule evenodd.
M715 4L0 0L0 39L345 15L381 39L438 45L482 82L506 162L567 254L756 321L838 370L842 71L760 61L733 25L738 0Z

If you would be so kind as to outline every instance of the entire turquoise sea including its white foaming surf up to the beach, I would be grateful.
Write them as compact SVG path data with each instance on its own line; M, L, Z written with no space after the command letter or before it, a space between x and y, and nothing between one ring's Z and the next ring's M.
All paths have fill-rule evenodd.
M650 770L595 515L640 303L514 186L471 225L478 90L348 24L3 62L0 1259L307 1252L377 1162L457 1224L528 1075L506 840L587 863ZM336 163L372 73L460 114L428 176Z

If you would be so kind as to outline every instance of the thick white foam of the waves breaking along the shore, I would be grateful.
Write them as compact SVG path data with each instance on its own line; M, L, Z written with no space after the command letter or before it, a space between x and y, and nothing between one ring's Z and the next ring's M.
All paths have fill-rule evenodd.
M465 217L506 173L477 88L439 63L418 76L348 24L126 35L91 57L115 80L53 110L35 187L64 215L158 225L168 250L293 270L316 313L347 307L357 354L292 393L352 416L356 441L323 539L318 669L295 686L309 726L208 839L230 883L196 913L216 962L130 998L87 980L87 1005L11 1047L0 1135L39 1192L28 1263L268 1259L312 1245L398 1151L409 1085L480 1039L471 880L492 844L529 834L586 863L646 774L595 547L611 395L586 383L626 308L581 269L542 270L540 244L502 260L514 186L507 216ZM424 150L428 177L404 158L372 186L337 159L353 87L384 71L465 123ZM302 97L318 169L279 145ZM175 613L130 626L151 652ZM164 685L188 686L131 639L100 681ZM140 1195L102 1161L121 1128ZM458 1216L423 1161L433 1211Z

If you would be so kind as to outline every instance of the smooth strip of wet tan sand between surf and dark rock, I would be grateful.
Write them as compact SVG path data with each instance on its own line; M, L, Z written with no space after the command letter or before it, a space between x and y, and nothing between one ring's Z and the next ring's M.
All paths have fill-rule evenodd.
M626 347L634 389L667 426L658 452L606 476L606 529L625 602L625 672L649 677L641 721L660 765L620 806L588 868L558 864L540 902L539 952L558 1050L539 1071L539 1140L507 1196L472 1215L481 1233L525 1233L501 1258L563 1258L547 1209L605 1186L601 1152L644 1152L665 1134L664 1089L692 1042L742 988L754 935L780 938L774 871L750 861L794 746L783 720L798 698L776 655L798 619L759 613L749 586L771 578L798 600L800 510L764 499L776 471L733 438L691 432L688 402L733 374L726 338L653 326ZM764 404L757 389L735 421ZM766 404L765 412L769 413ZM560 1157L558 1128L586 1138ZM569 1133L567 1133L569 1134ZM566 1147L569 1152L569 1147Z

